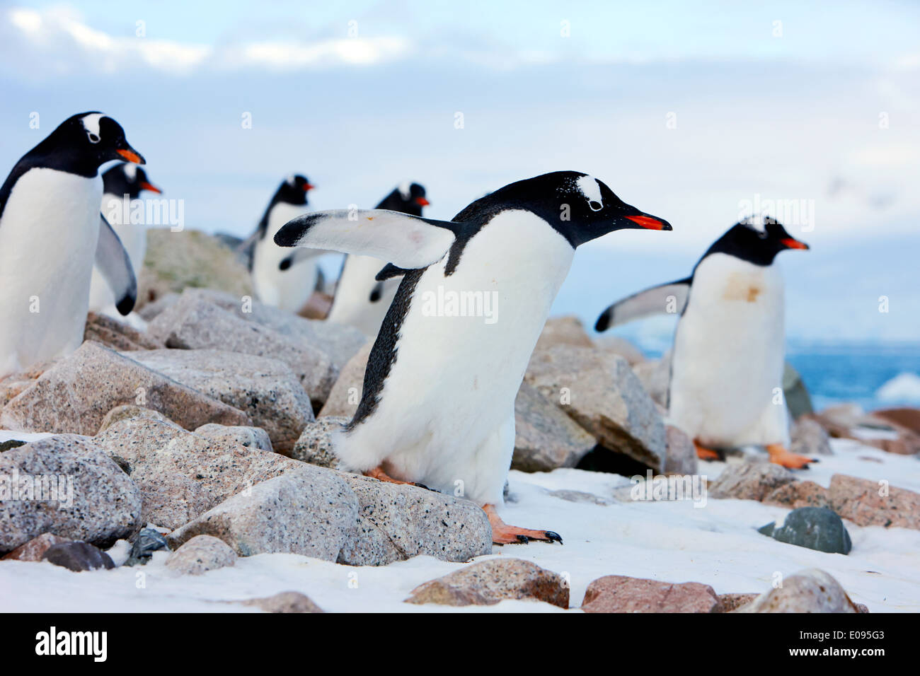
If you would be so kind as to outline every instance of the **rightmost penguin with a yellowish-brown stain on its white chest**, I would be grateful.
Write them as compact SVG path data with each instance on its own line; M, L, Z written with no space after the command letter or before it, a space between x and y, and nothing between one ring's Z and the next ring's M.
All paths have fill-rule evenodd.
M776 254L808 245L766 219L764 228L736 223L684 280L638 292L598 318L604 331L633 319L680 313L674 334L669 417L715 459L713 449L765 446L786 467L815 462L788 453L782 395L786 334L784 290Z

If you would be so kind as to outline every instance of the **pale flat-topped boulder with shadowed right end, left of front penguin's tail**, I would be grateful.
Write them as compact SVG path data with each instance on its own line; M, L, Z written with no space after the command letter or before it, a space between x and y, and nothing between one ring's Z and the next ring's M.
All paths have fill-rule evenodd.
M283 361L219 349L157 349L133 352L153 371L235 407L267 431L271 447L290 453L313 407L300 379Z

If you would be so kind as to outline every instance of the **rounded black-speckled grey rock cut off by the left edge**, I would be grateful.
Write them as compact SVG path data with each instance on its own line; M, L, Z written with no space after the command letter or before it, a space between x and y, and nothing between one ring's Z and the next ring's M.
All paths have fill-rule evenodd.
M106 547L140 519L138 487L93 440L66 434L0 453L0 554L42 533Z

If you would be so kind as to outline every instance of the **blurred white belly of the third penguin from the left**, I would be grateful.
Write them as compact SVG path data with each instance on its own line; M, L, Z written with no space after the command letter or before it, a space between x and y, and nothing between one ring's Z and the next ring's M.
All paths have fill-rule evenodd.
M252 259L252 282L262 303L297 312L313 295L319 271L313 260L304 260L291 268L278 266L291 249L275 244L274 236L284 223L305 212L304 207L279 203L271 209L265 236L256 243ZM317 251L316 255L324 252Z

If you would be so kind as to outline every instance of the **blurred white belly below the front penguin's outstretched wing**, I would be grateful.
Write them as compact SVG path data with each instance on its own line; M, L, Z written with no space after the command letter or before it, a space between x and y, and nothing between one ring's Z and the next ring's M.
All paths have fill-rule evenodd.
M385 280L384 292L376 301L371 301L377 284L374 277L385 265L385 261L370 256L345 258L327 321L355 327L365 336L374 338L399 288L398 279Z

